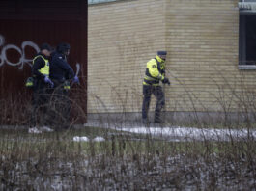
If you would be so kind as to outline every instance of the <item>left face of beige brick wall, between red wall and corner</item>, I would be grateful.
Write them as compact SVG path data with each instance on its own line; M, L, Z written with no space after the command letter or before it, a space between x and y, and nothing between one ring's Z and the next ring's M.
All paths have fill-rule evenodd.
M165 49L163 8L165 0L89 6L88 113L140 111L146 62Z

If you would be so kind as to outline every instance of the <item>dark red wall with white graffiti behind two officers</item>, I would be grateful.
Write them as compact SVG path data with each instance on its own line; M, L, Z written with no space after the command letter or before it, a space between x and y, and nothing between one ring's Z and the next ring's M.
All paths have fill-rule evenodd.
M68 63L81 84L74 88L83 113L87 103L87 0L1 0L0 1L0 100L1 121L12 118L3 112L10 101L24 103L29 90L33 56L40 45L71 44ZM78 90L78 91L77 91ZM82 91L81 91L82 90ZM71 90L72 91L72 90ZM71 95L72 96L72 95ZM12 110L11 105L9 109ZM11 116L10 116L11 115ZM22 115L22 114L20 114ZM16 117L18 118L18 117Z

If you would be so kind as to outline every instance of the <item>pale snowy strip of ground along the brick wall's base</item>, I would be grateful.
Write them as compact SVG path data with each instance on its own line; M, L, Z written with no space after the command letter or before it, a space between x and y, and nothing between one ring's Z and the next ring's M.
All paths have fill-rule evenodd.
M126 131L130 133L139 134L151 134L170 141L230 141L231 139L236 140L247 140L252 139L256 141L256 130L248 129L213 129L213 128L197 128L197 127L181 127L171 126L169 124L155 124L150 123L144 125L136 122L104 122L91 121L84 126L95 126L111 128L120 131Z

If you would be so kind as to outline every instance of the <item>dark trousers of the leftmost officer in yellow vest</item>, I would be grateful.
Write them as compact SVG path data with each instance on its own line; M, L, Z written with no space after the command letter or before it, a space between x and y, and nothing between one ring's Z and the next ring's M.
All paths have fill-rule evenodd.
M48 124L47 110L49 107L49 87L43 80L35 79L32 96L32 114L31 125L35 126L38 123L41 125ZM39 119L41 120L39 122Z

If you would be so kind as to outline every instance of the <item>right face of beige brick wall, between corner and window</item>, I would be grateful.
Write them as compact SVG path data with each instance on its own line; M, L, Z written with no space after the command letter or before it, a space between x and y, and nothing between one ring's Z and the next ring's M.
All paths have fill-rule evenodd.
M166 38L173 82L167 110L241 109L239 99L255 72L238 69L238 1L168 1Z

